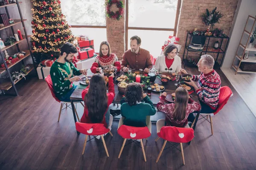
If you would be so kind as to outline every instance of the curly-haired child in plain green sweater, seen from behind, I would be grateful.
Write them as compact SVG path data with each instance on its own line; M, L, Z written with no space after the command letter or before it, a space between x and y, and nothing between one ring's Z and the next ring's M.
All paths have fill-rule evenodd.
M141 100L145 103L142 103ZM134 127L145 127L150 124L150 116L156 113L153 103L143 94L140 83L131 83L125 89L125 97L121 100L123 124ZM120 121L119 126L122 125Z

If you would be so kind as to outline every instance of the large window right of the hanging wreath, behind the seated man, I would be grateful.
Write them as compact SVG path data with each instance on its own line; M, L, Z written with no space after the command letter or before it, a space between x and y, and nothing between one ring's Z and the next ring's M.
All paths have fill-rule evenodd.
M141 38L141 47L157 57L169 35L176 35L180 0L127 0L126 50L130 37Z

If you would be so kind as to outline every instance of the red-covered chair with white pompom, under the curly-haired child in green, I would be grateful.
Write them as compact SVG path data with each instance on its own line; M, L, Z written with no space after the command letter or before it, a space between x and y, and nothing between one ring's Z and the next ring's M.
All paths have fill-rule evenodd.
M120 156L122 154L122 150L125 147L126 139L140 139L140 144L141 144L144 160L145 160L145 162L147 161L142 139L145 139L145 138L148 138L149 136L151 136L151 133L148 130L148 127L132 127L132 126L121 125L118 128L117 133L120 136L122 136L122 138L125 139L122 144L118 158L120 158Z

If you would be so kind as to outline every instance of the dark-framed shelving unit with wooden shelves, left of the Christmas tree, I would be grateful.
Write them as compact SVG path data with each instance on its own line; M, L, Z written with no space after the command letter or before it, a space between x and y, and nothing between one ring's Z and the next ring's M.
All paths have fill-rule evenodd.
M26 58L29 57L29 56L31 56L33 64L29 64L29 66L30 66L31 69L27 72L27 74L29 74L32 70L34 70L34 69L36 68L35 61L34 61L34 57L33 57L33 53L32 53L32 50L31 50L31 48L30 48L30 46L29 46L29 37L30 37L30 36L28 36L28 35L27 35L27 32L26 32L26 28L25 28L25 24L24 24L24 21L26 21L26 20L24 20L23 17L22 17L21 9L20 9L20 3L22 3L22 2L19 2L18 0L16 0L16 3L11 3L11 4L4 5L4 6L0 6L0 8L5 8L6 14L7 14L7 16L8 16L8 19L10 19L9 11L8 11L8 8L7 8L8 6L14 6L14 5L16 5L17 8L18 8L19 14L20 14L20 20L14 20L14 23L12 23L12 24L10 24L10 25L8 25L8 26L1 27L1 28L0 28L0 31L3 30L3 29L6 29L6 28L11 28L11 29L12 29L12 34L13 34L13 36L14 36L15 31L14 31L14 29L13 29L13 26L15 26L16 24L22 23L23 30L24 30L24 33L25 33L25 35L23 36L23 40L19 40L19 41L15 42L15 43L12 44L12 45L8 45L8 46L6 46L6 47L0 49L0 55L1 55L1 58L2 58L2 60L3 60L4 65L5 65L5 69L4 69L4 68L0 69L0 74L3 74L5 71L7 71L7 74L9 75L9 79L10 79L9 82L2 82L2 83L0 83L0 90L2 90L3 94L5 94L5 91L8 91L9 89L11 89L11 88L13 87L14 90L15 90L15 95L16 95L16 96L18 96L18 92L17 92L17 88L15 87L15 84L16 84L17 82L19 82L21 79L23 79L23 77L20 78L20 79L18 79L16 82L14 82L14 81L12 80L11 72L10 72L9 69L12 68L14 65L20 63L20 62L22 62L22 64L24 64L24 59L26 59ZM28 49L20 50L18 44L19 44L20 42L25 41L25 40L26 40L26 42L27 42ZM16 45L16 47L17 47L17 51L19 51L19 52L20 52L20 51L24 51L26 54L24 55L24 57L20 58L20 59L19 59L18 61L16 61L15 63L7 65L7 63L6 63L6 61L5 61L5 56L4 56L1 52L3 52L3 51L5 51L5 50L7 50L7 49L9 49L9 48L11 48L12 46L15 46L15 45Z

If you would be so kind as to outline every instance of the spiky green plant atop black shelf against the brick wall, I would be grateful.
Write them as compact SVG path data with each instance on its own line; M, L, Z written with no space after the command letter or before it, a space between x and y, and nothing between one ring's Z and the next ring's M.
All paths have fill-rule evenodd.
M206 9L206 13L201 15L203 23L208 26L207 31L209 31L209 28L213 28L215 23L219 23L219 19L223 17L223 15L219 11L216 11L216 9L217 7L215 7L212 12L209 12L209 10Z

